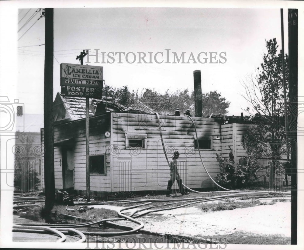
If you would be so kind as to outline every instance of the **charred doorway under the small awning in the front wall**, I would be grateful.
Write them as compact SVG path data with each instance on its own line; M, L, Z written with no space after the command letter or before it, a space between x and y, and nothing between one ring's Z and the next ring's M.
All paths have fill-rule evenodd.
M62 147L63 189L74 188L74 150Z

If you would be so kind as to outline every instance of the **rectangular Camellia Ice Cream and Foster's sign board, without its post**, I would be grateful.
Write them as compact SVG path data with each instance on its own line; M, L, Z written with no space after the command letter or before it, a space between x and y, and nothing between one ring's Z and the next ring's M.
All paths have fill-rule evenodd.
M65 96L102 98L103 67L61 63L60 86Z

